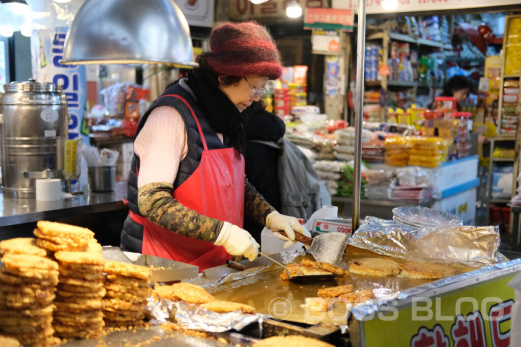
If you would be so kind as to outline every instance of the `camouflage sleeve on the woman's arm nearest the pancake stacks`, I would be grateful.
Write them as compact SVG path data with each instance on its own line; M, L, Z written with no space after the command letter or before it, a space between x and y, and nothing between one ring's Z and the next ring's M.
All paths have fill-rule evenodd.
M179 235L215 242L222 222L183 206L170 183L149 183L138 190L139 212L152 223Z

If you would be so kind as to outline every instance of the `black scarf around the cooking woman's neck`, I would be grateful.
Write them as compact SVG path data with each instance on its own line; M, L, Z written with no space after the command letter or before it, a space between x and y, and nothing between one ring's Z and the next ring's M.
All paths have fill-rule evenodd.
M242 127L246 114L239 112L226 94L210 83L203 76L188 74L188 85L197 98L197 104L204 112L208 123L216 133L228 137L239 152L244 155L246 150L246 134Z

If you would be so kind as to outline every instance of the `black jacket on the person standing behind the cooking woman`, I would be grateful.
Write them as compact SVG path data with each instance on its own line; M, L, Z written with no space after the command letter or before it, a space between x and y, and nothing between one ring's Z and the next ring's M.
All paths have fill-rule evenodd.
M247 110L249 115L244 121L247 146L245 155L245 172L248 181L276 210L280 210L280 192L277 162L280 150L255 143L255 140L278 142L286 125L277 115L264 109L262 102L254 101ZM244 229L250 232L258 243L261 243L263 226L244 216Z

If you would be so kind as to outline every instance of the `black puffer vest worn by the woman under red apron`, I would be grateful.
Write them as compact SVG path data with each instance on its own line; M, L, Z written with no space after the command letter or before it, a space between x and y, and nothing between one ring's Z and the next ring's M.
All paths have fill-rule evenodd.
M163 95L176 94L180 97L187 100L190 107L192 107L197 120L199 120L199 124L201 125L201 129L203 131L203 135L206 139L206 144L208 149L219 149L219 148L229 148L232 147L231 144L228 143L227 137L224 136L225 145L223 146L219 137L215 131L210 127L208 122L206 121L206 117L203 112L197 105L197 101L195 100L190 87L185 83L184 80L181 80L180 83L177 83L165 90ZM197 169L199 163L201 162L201 156L203 153L203 142L201 140L201 136L199 135L199 131L197 130L197 124L192 117L192 113L190 109L182 102L180 99L173 96L164 96L157 98L152 105L146 110L145 114L138 125L138 130L135 133L135 138L138 137L141 129L143 128L148 115L158 106L170 106L175 108L183 118L184 126L187 131L187 143L188 143L188 153L187 156L184 157L183 160L179 163L179 169L177 172L176 179L173 183L173 188L176 189L179 187L190 175ZM139 172L140 161L139 157L135 155L132 158L132 164L130 168L130 174L128 179L128 201L129 208L135 214L141 216L141 213L138 209L138 172ZM141 253L141 249L143 246L143 226L137 222L134 222L129 216L123 223L123 230L121 232L121 245L120 248L124 251L131 252L139 252Z

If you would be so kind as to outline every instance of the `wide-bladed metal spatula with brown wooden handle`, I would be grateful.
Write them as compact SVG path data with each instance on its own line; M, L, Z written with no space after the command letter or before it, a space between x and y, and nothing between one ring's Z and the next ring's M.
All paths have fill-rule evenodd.
M280 232L283 236L288 236L284 232ZM295 239L311 246L309 252L313 255L317 262L326 262L332 265L338 265L348 244L349 235L342 233L325 233L314 238L307 237L300 233L295 233Z

